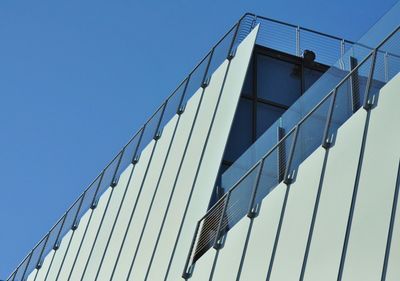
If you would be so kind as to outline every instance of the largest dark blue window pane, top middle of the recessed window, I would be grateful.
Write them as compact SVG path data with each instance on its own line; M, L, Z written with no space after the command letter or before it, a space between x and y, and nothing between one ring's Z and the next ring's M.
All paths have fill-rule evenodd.
M292 105L301 95L300 65L258 55L257 95L281 105Z

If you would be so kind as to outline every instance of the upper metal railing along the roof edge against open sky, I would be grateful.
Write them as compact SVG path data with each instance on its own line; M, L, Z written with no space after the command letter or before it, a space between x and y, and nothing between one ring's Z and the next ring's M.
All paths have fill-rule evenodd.
M8 281L25 280L31 271L41 268L46 255L51 250L58 249L63 236L69 230L78 227L79 220L87 210L96 208L100 196L109 187L117 185L122 172L130 164L139 161L146 145L161 137L166 123L175 114L180 115L184 112L185 105L192 95L200 87L207 87L214 71L225 59L230 60L234 57L237 46L257 24L260 24L257 44L297 56L301 56L304 50L311 48L317 53L317 60L324 64L334 63L337 57L353 44L348 40L273 19L249 13L243 15L36 244L7 278Z

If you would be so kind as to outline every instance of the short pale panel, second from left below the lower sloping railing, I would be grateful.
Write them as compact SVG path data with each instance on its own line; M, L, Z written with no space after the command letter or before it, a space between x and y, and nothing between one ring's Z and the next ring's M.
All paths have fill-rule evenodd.
M225 246L219 252L212 280L236 280L249 224L250 219L247 217L242 218L228 232Z

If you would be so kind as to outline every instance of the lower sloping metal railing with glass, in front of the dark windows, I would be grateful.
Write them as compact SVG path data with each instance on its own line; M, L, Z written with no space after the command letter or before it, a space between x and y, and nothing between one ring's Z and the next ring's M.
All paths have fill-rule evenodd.
M392 56L388 56L391 53ZM290 184L299 165L321 145L333 145L338 128L358 109L371 109L379 90L400 71L400 27L373 49L332 91L253 165L197 223L183 271L223 246L226 233L246 215L258 214L263 198L279 183ZM392 69L386 67L391 61ZM282 135L282 134L277 134Z

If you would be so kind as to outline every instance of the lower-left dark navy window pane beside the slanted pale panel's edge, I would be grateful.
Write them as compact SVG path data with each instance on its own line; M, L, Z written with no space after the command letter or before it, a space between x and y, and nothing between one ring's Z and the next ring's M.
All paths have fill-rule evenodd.
M241 98L236 109L224 159L234 162L252 143L252 101Z

